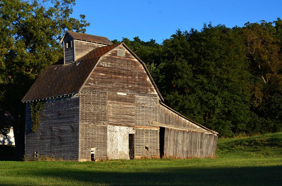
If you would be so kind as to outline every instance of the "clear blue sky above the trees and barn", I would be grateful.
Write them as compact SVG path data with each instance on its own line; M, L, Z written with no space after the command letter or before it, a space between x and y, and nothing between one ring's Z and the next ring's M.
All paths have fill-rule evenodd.
M213 26L242 27L246 22L282 19L282 0L76 0L73 17L86 15L91 23L86 33L122 40L139 36L162 43L175 30L201 30L203 23Z

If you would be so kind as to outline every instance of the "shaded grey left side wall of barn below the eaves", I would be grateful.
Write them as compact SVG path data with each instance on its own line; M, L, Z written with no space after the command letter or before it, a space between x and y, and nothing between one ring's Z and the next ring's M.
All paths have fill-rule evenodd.
M38 129L31 132L30 106L26 104L25 159L33 160L36 151L39 156L34 160L78 160L79 97L47 100L42 114Z

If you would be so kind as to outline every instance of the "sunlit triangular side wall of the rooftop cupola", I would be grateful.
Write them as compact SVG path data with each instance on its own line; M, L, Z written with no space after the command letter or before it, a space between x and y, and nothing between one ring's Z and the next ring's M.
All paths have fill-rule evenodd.
M100 48L102 44L92 43L92 42L86 42L86 41L79 41L75 40L75 61L90 52L91 50L95 48Z

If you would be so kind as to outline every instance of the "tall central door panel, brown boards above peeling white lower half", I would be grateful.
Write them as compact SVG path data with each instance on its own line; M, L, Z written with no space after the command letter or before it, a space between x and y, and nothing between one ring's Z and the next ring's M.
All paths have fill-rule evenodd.
M129 144L135 134L134 95L108 92L107 158L129 159ZM132 147L132 145L131 145ZM131 148L132 149L132 148Z

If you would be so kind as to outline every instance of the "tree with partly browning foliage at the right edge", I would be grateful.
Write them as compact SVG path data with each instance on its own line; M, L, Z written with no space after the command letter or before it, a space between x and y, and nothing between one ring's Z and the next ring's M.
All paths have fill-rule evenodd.
M275 26L273 25L275 24ZM252 74L251 109L257 115L258 132L282 130L281 19L246 23L245 51Z

